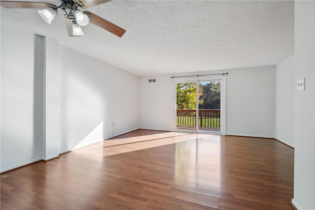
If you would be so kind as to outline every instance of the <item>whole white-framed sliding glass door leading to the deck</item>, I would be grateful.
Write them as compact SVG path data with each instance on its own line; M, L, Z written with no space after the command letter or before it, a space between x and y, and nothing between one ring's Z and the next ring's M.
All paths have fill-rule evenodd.
M175 130L224 133L223 79L175 81Z

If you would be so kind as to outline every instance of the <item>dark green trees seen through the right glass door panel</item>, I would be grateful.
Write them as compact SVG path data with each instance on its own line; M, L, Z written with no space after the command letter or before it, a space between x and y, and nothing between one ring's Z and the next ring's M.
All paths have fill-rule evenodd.
M199 104L199 109L220 109L220 96L221 96L221 83L220 82L207 82L199 83L199 87L202 87L203 94L200 99L204 101L203 104Z

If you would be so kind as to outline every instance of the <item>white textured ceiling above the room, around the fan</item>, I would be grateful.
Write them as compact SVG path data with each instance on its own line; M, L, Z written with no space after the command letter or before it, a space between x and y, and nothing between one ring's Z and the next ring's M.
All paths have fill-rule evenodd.
M293 1L113 0L88 11L126 33L89 24L68 37L62 10L49 25L37 9L1 7L1 21L139 76L275 65L294 53Z

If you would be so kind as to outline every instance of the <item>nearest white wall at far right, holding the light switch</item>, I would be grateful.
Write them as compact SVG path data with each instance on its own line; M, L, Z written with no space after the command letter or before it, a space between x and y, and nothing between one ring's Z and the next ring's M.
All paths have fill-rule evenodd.
M315 209L315 1L295 1L294 199L298 209Z

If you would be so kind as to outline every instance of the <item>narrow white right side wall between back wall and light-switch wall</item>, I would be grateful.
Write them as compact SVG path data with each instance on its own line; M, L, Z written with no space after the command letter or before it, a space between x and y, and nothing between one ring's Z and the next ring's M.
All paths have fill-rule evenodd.
M276 65L275 138L294 147L294 55Z

